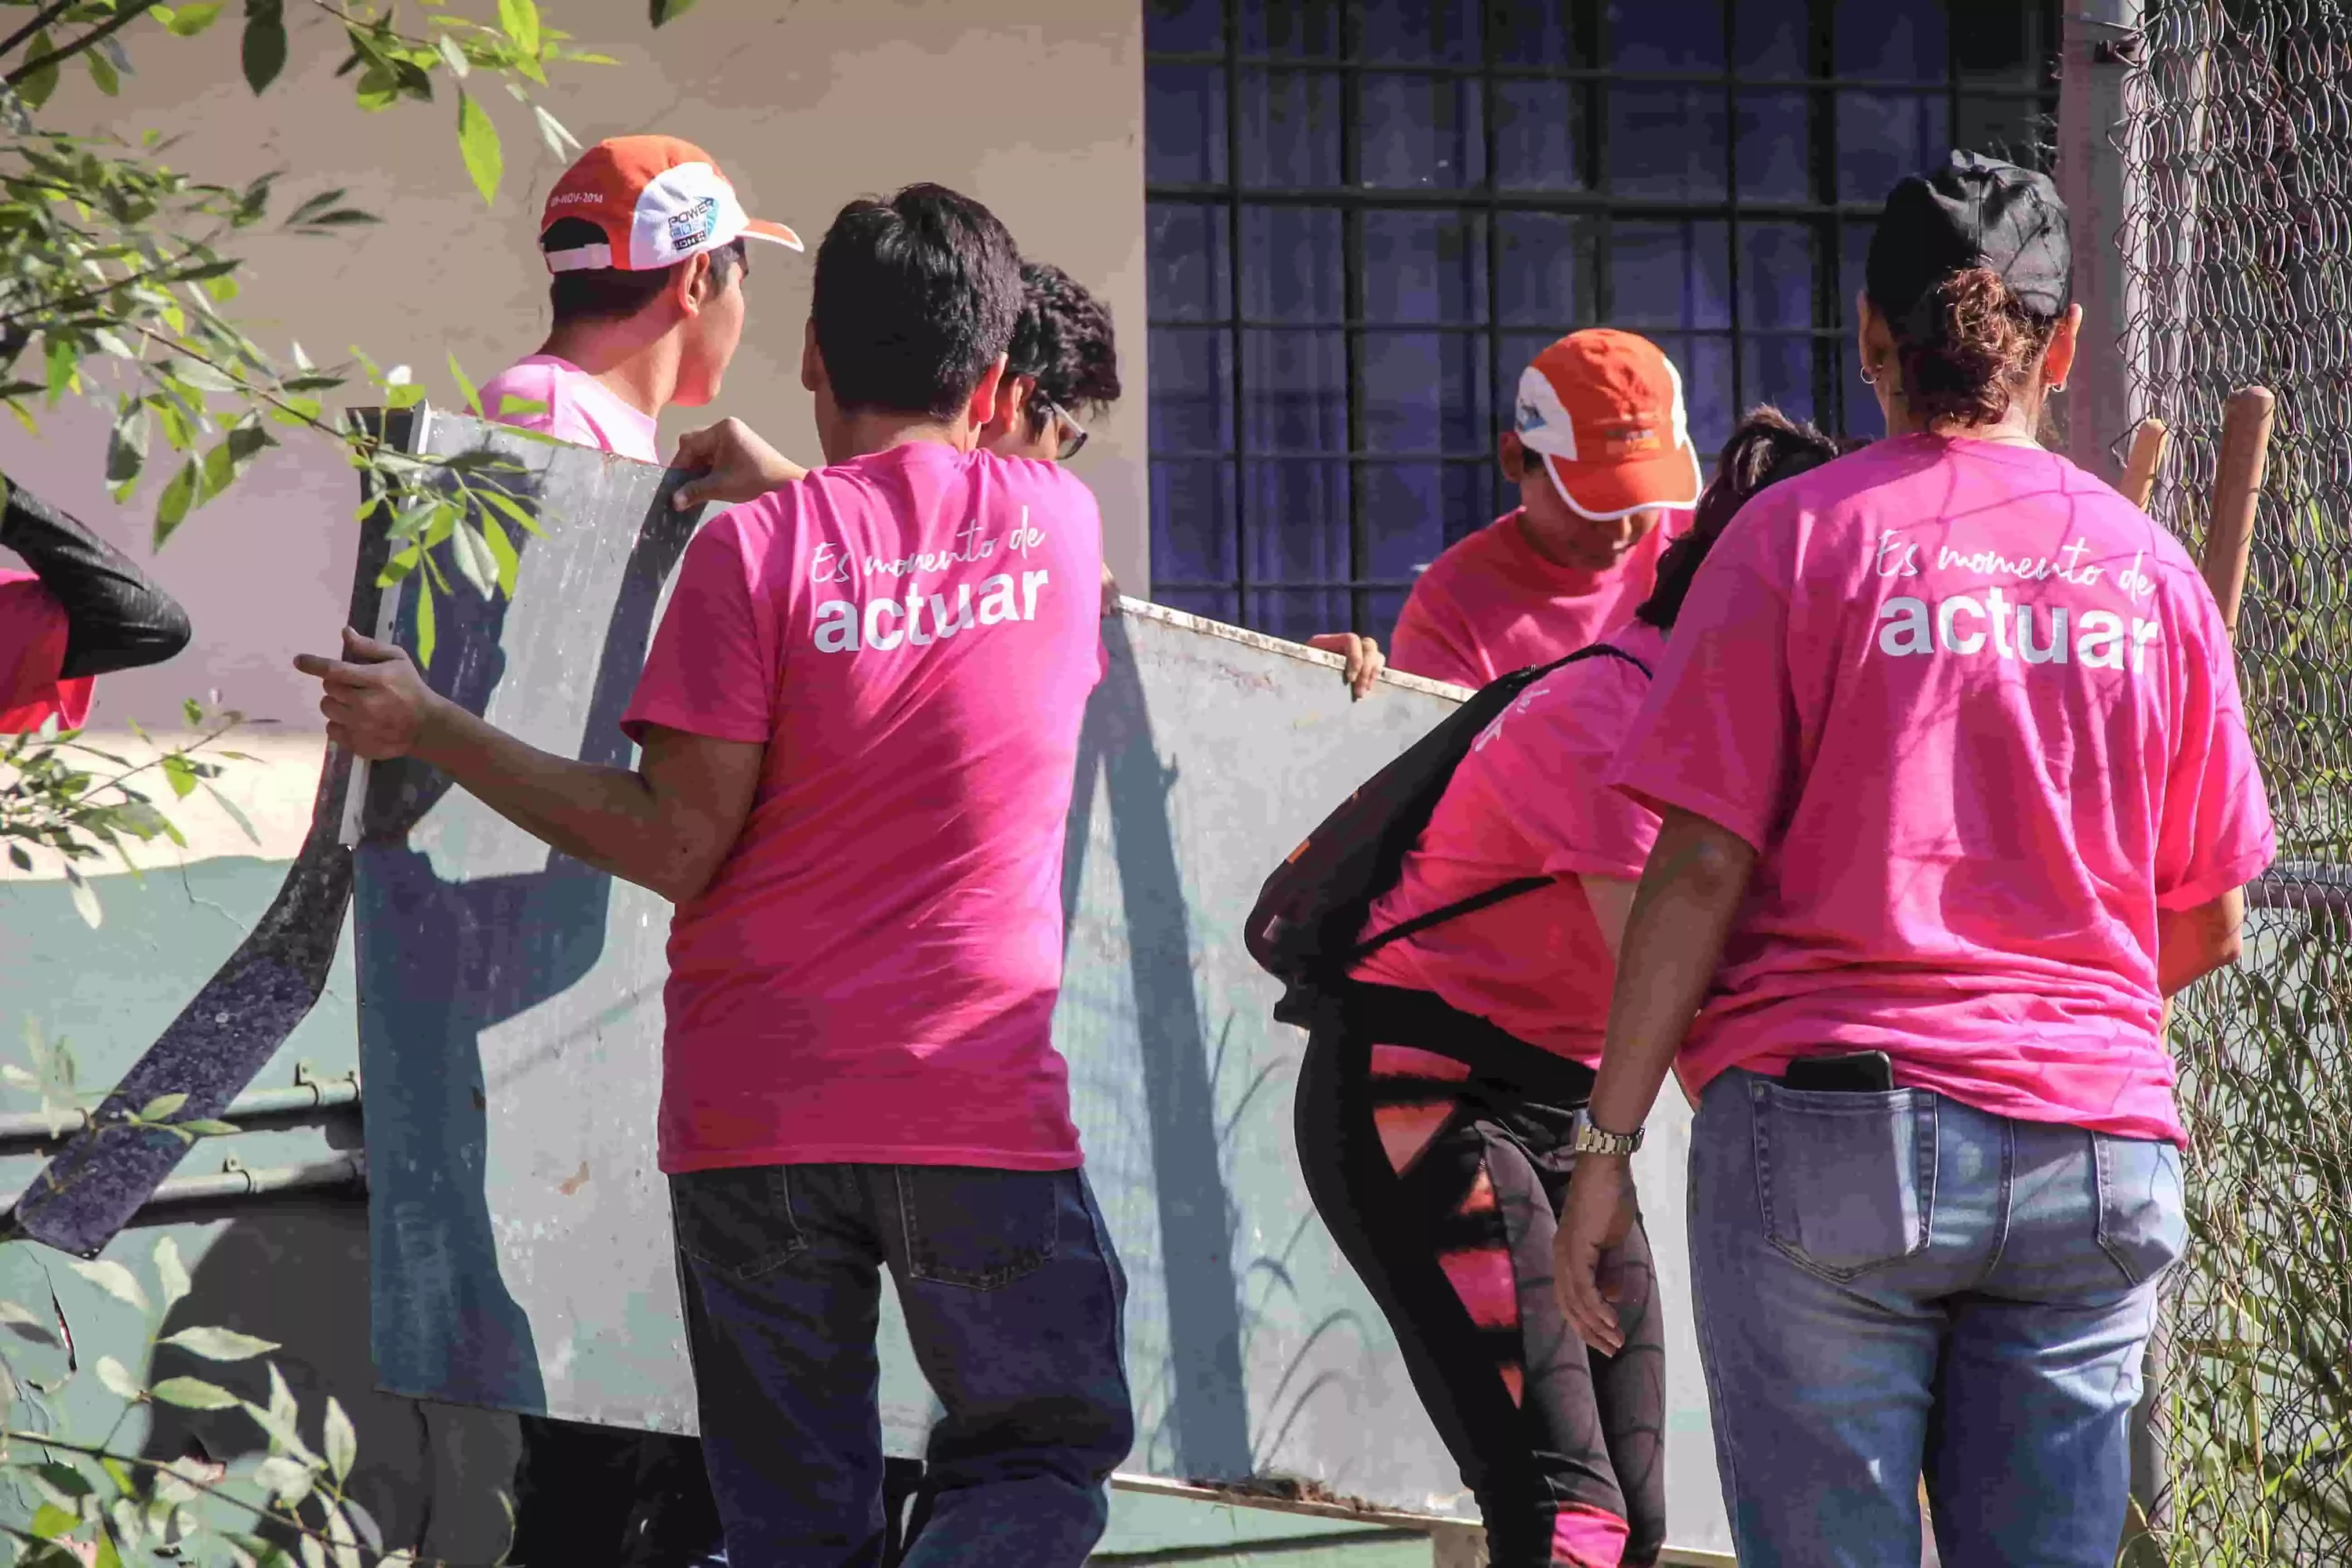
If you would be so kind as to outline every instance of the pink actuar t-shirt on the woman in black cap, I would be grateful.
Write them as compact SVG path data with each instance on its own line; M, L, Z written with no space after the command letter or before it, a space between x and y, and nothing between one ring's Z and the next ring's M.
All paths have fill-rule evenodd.
M1611 778L1757 846L1693 1088L1877 1048L2183 1138L2157 910L2251 882L2270 809L2204 578L2065 458L1907 435L1750 501Z

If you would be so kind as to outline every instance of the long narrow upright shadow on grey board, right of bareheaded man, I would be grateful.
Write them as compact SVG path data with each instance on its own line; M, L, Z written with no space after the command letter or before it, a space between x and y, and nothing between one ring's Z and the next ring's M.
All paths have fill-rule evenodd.
M1240 1481L1251 1472L1251 1453L1240 1274L1232 1267L1237 1213L1218 1159L1209 1030L1192 985L1192 922L1169 820L1171 778L1152 743L1152 715L1127 621L1105 618L1103 642L1110 668L1087 703L1063 844L1063 952L1077 924L1101 778L1110 792L1167 1279L1171 1432L1162 1436L1171 1439L1176 1474ZM1141 1448L1148 1450L1150 1441L1145 1436Z

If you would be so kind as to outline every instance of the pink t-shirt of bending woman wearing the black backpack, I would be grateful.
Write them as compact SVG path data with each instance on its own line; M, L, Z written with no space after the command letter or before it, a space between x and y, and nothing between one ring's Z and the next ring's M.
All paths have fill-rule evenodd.
M1606 642L1649 670L1665 656L1665 635L1639 621ZM1531 1046L1597 1065L1616 961L1578 877L1635 882L1658 839L1656 813L1604 783L1646 693L1649 677L1623 658L1581 658L1496 715L1364 936L1517 877L1559 882L1390 943L1355 978L1437 992Z

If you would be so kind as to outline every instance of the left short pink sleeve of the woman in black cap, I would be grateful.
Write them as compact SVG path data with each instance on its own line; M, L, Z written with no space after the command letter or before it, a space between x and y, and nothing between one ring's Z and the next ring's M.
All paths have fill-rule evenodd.
M1788 818L1799 733L1788 665L1797 510L1773 501L1750 503L1708 552L1609 771L1635 799L1703 816L1759 851Z

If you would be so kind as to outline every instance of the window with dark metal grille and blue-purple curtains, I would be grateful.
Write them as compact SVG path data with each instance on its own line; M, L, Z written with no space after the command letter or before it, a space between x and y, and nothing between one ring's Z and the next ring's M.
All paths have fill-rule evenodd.
M1385 642L1576 327L1665 348L1703 456L1877 435L1877 205L2046 162L2056 54L2056 0L1145 0L1152 597Z

